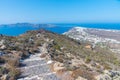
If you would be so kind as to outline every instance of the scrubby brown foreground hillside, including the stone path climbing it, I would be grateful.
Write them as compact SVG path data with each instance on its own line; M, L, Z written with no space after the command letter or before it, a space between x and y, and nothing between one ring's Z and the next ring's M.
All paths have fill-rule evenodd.
M93 47L84 38L78 41L68 36L46 30L28 31L17 37L1 35L1 79L120 79L120 60L114 52L99 45ZM50 75L44 76L47 73Z

